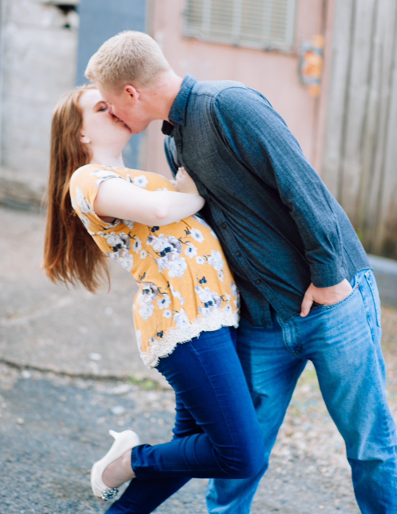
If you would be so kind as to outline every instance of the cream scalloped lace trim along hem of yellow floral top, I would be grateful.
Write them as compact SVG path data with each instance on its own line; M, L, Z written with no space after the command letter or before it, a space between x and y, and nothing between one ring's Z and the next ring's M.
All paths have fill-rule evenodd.
M159 359L172 354L177 344L186 343L194 337L198 337L201 332L212 332L222 326L234 326L237 328L239 319L240 316L237 310L226 313L213 310L208 318L204 318L202 314L199 314L187 327L179 328L172 326L168 328L161 338L161 344L150 343L146 352L142 352L139 348L140 357L146 368L156 368Z

